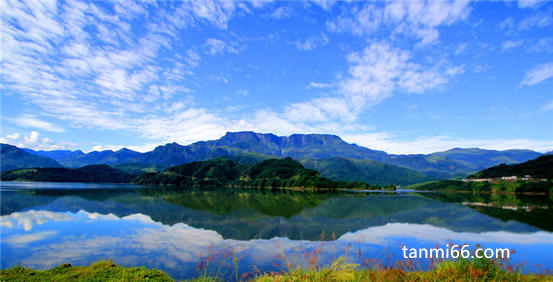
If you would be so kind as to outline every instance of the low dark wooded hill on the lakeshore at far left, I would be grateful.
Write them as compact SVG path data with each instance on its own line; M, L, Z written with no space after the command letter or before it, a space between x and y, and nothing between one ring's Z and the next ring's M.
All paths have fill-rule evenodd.
M129 183L136 175L112 168L108 165L88 165L81 168L46 167L27 168L4 172L2 180L42 182L97 182Z

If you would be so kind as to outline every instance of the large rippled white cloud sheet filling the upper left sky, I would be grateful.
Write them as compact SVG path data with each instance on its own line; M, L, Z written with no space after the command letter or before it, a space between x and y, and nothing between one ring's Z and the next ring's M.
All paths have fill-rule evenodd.
M199 24L225 29L234 13L265 2L181 1L167 9L161 6L169 2L126 1L106 9L98 2L2 1L2 87L66 127L141 132L137 116L167 115L158 105L190 92L183 85L201 58L190 46L172 50L178 32ZM211 53L238 51L207 43ZM163 48L175 57L158 60ZM63 130L33 116L18 122Z

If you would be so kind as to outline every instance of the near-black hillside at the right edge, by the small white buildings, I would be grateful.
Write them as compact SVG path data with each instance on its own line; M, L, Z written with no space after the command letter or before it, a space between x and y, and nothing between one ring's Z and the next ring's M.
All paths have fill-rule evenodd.
M469 178L496 178L502 176L525 176L530 175L536 179L553 180L553 155L543 155L534 160L520 164L500 164L469 176Z

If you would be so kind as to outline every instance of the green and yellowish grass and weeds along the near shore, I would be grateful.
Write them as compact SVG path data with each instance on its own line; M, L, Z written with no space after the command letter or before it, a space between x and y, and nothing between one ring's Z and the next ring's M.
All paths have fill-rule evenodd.
M260 274L252 282L341 282L341 281L553 281L550 274L527 275L519 270L504 267L497 260L471 259L444 261L428 271L414 271L412 264L386 269L358 269L357 265L345 263L340 257L329 267L317 269L291 269L283 273ZM232 280L241 280L238 276ZM73 267L62 264L49 270L32 270L15 266L0 272L2 281L175 281L160 270L145 267L125 268L112 261L99 261L90 266ZM223 281L219 277L201 275L194 282ZM242 280L243 281L243 280Z

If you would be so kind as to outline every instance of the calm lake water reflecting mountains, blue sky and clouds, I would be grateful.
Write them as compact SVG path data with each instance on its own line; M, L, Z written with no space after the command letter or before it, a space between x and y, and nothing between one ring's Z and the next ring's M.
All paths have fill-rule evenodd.
M2 268L113 259L175 279L220 266L231 279L233 253L247 276L342 255L391 265L405 262L402 246L453 242L515 250L512 263L525 272L553 269L553 201L545 196L14 182L2 182L0 196Z

